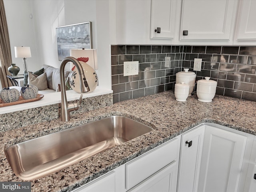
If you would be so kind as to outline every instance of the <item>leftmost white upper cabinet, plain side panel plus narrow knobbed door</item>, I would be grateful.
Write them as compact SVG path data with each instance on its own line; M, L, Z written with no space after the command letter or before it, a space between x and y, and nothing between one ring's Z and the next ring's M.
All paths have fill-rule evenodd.
M111 43L177 44L180 10L181 0L111 1Z

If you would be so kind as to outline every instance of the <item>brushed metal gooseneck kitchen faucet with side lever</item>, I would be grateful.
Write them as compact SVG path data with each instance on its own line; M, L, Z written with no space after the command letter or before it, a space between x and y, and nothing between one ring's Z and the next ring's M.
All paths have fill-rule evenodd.
M66 88L65 88L65 77L64 77L64 68L67 62L72 62L76 66L78 70L78 74L80 76L80 90L82 93L90 91L90 88L88 86L87 80L84 76L84 70L82 68L82 65L78 60L76 60L73 57L66 57L62 60L60 64L60 91L61 91L61 106L60 106L60 118L62 121L69 121L70 120L70 111L78 110L81 102L82 102L82 96L81 94L79 98L79 103L68 103L67 96L66 96Z

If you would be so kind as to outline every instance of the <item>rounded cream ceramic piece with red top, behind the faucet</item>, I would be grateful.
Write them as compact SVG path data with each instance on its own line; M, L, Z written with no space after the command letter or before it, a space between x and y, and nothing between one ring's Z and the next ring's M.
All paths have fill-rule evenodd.
M87 59L87 58L85 58L85 59ZM98 85L97 74L96 74L95 70L90 65L88 65L86 62L84 62L84 61L86 61L86 60L84 60L84 58L78 58L77 60L80 62L80 64L82 64L82 67L84 70L84 76L85 76L88 86L90 88L90 91L87 93L93 92ZM88 61L88 59L87 59L87 61ZM79 76L76 66L72 69L72 71L73 72L72 72L72 74L70 76L70 80L69 80L70 87L75 92L81 93L80 76Z

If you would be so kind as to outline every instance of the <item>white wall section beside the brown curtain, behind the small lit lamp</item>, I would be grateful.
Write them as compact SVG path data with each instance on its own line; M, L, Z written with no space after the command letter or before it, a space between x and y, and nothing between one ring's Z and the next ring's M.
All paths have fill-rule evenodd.
M15 58L14 46L29 46L32 57L27 58L28 70L38 70L42 64L38 59L34 18L30 18L32 14L30 0L4 0L4 8L10 36L12 63L20 68L19 74L22 74L24 71L22 58Z

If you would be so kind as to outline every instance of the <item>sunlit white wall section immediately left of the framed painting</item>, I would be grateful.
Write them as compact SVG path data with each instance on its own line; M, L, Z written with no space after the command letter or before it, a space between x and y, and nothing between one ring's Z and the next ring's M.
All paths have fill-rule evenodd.
M32 1L33 17L39 60L42 64L59 68L55 28L59 26L58 18L64 17L63 1L36 0ZM60 19L61 20L61 19Z

